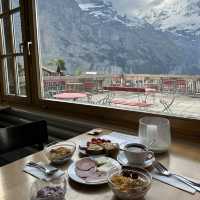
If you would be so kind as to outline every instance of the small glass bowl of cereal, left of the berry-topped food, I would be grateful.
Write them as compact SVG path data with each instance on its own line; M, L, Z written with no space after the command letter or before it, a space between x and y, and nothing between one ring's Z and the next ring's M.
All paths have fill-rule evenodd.
M58 142L45 146L44 153L50 163L62 165L71 159L76 150L74 142Z

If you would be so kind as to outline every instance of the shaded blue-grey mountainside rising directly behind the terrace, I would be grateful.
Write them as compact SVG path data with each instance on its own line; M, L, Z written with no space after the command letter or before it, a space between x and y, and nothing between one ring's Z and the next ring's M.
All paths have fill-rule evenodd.
M200 72L198 43L129 19L107 0L38 1L38 8L43 64L61 58L70 74Z

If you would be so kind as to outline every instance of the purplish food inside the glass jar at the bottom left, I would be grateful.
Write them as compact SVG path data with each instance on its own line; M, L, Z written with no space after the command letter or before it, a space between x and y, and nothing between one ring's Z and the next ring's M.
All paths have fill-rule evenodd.
M65 191L60 186L46 186L37 192L36 199L64 200Z

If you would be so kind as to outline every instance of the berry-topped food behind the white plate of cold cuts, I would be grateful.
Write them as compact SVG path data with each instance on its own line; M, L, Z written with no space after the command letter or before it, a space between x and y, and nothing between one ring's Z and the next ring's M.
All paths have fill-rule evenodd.
M84 150L88 155L106 154L114 157L118 153L119 147L110 140L92 138L87 142L86 146L80 146L80 149Z

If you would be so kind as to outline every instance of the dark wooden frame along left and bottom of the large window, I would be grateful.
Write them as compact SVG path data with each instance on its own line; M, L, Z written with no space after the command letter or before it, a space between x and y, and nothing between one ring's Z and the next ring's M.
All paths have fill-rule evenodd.
M96 121L103 124L124 127L127 130L136 130L138 128L138 121L143 116L166 117L171 122L172 133L180 137L188 137L194 140L197 138L199 139L200 121L198 119L42 99L35 1L25 1L23 6L23 10L25 10L25 14L27 14L25 23L28 26L26 30L28 32L27 35L30 35L28 40L32 41L31 56L28 57L30 66L28 70L30 77L28 86L31 100L29 101L29 107L25 107L25 109L33 108L56 115L78 117L79 119L90 121L91 123ZM2 88L0 88L0 90L2 90ZM21 106L27 106L26 103L23 104L20 102ZM12 102L12 105L16 105L16 98Z

